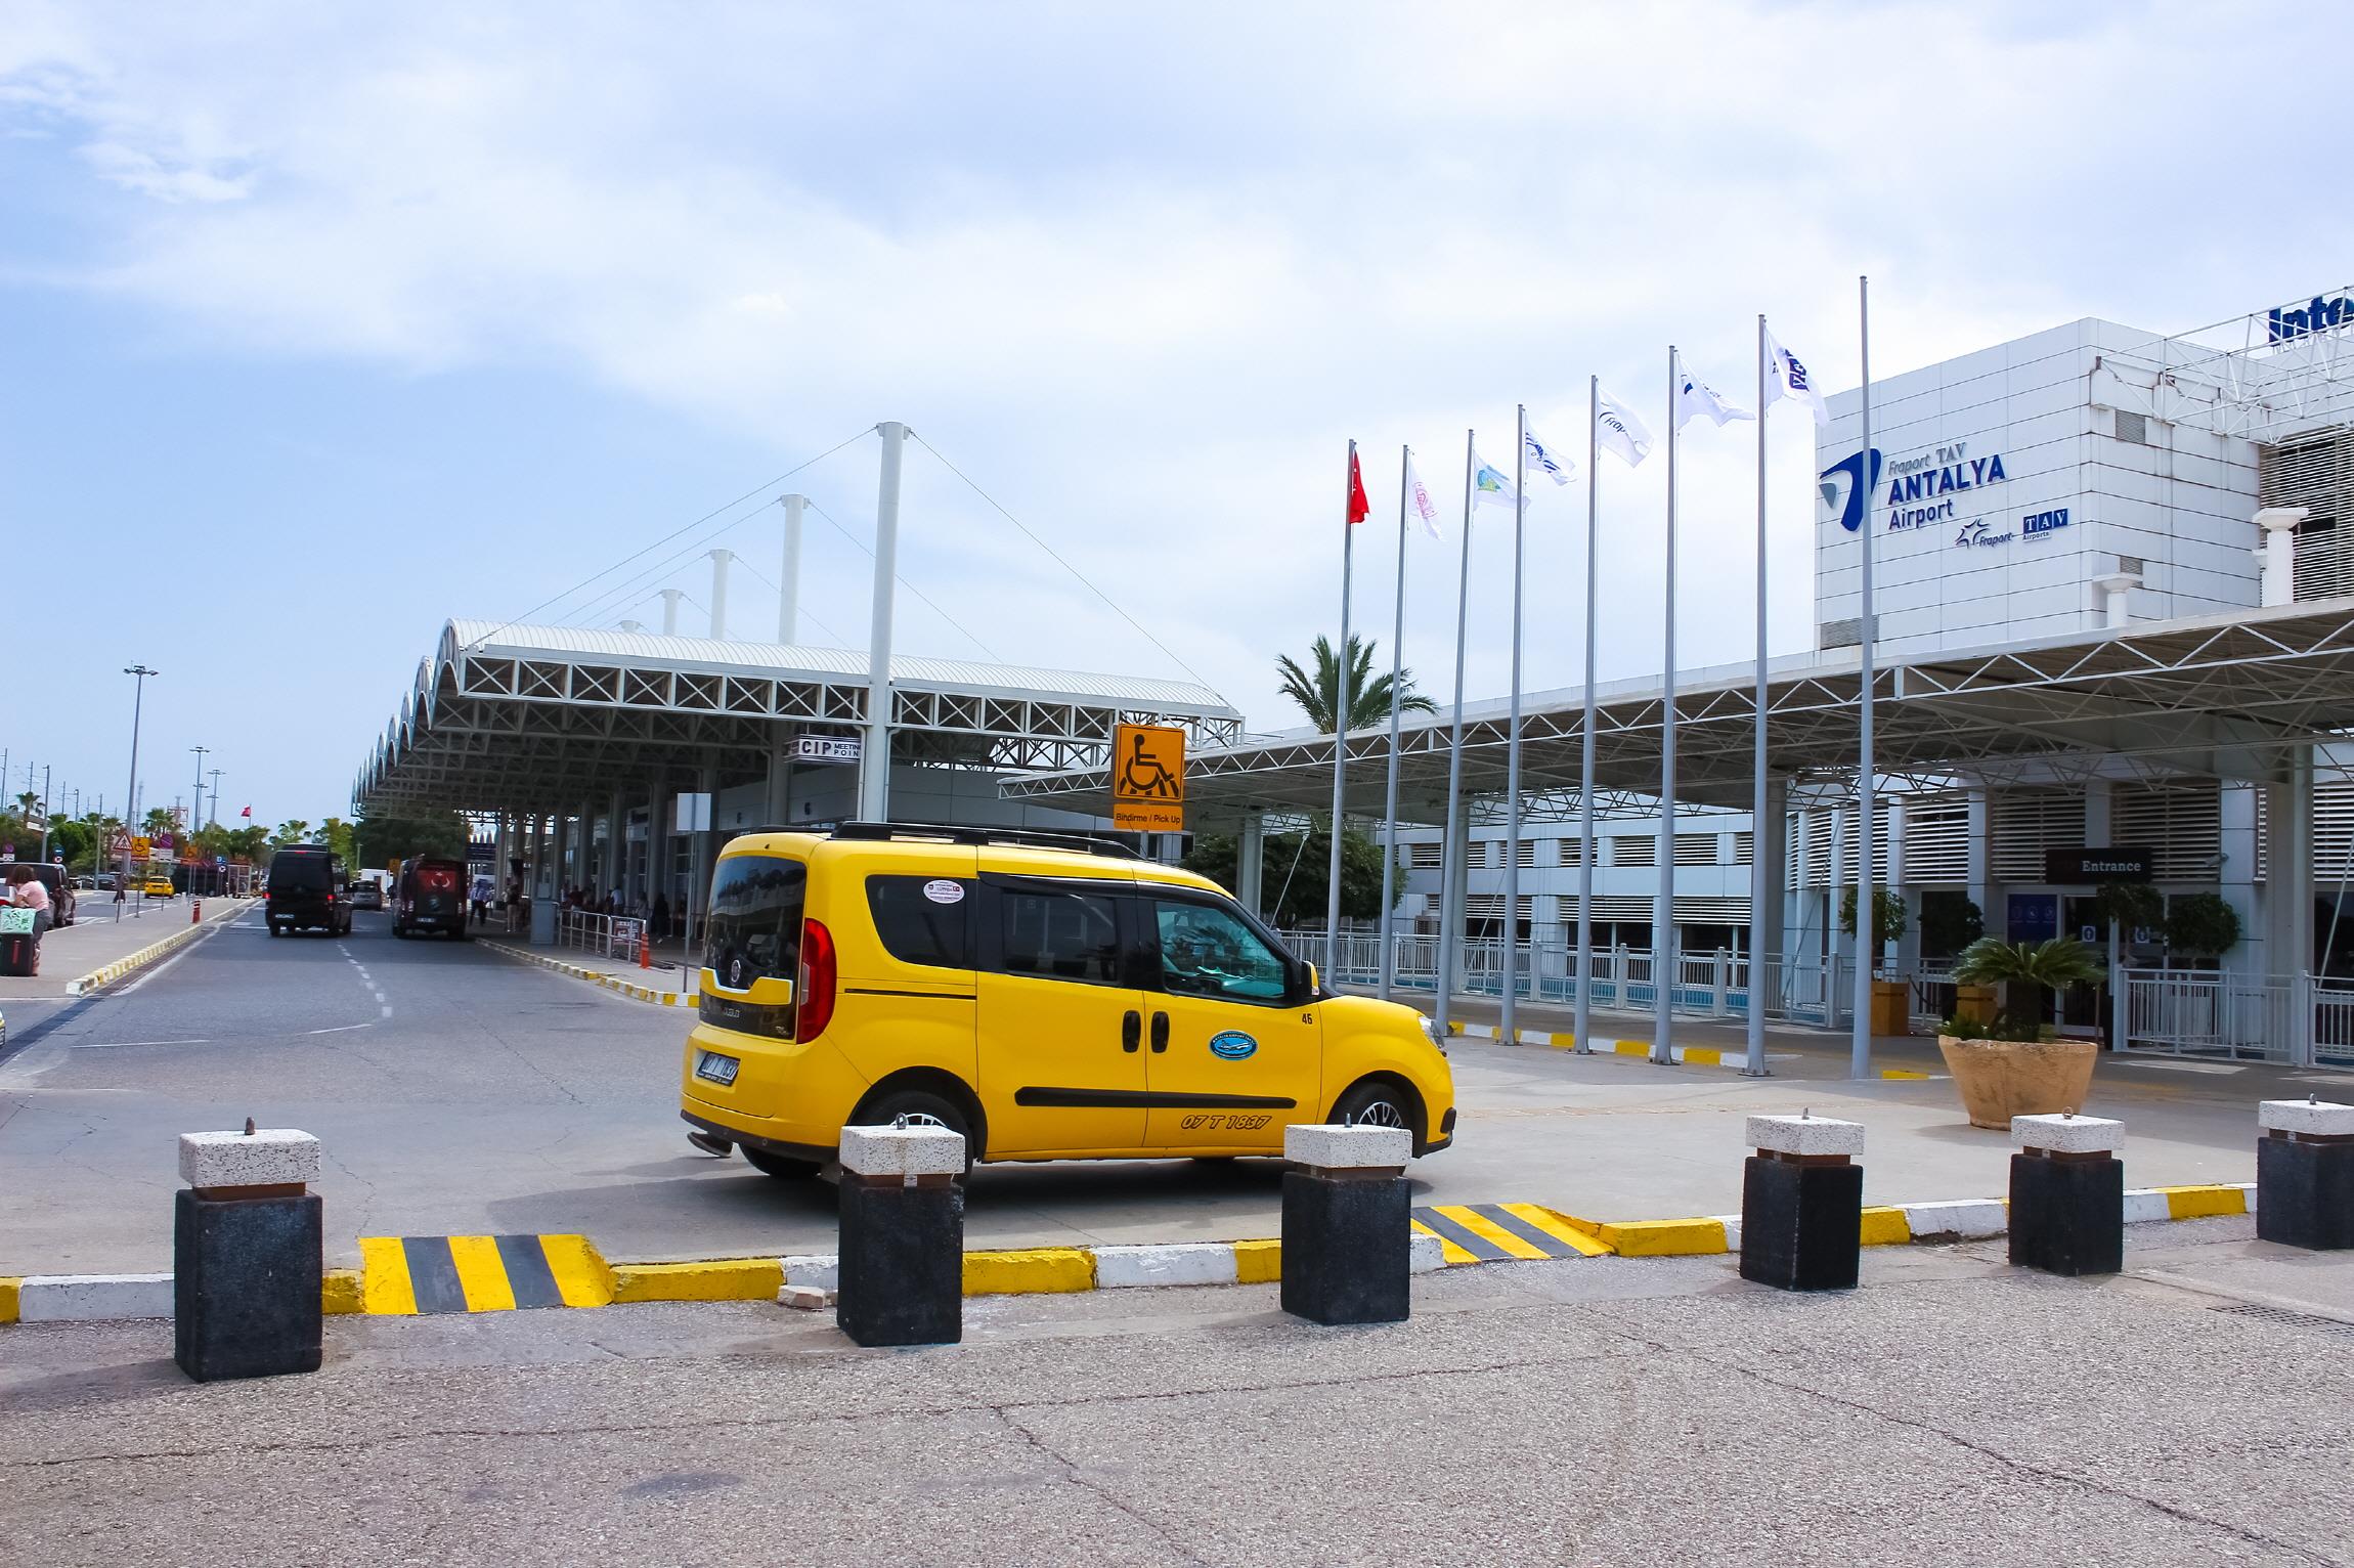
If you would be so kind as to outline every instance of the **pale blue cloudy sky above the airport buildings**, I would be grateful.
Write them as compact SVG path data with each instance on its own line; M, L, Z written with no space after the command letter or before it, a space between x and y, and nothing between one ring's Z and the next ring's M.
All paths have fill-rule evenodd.
M1582 447L1589 372L1660 410L1674 341L1747 396L1758 311L1850 386L1857 273L1881 372L2345 283L2354 219L2319 193L2354 111L2283 82L2312 21L5 0L12 786L52 763L118 808L146 662L148 803L205 744L224 815L346 810L443 619L652 622L664 584L706 600L713 544L772 579L760 487L843 440L791 480L826 511L805 638L864 647L878 419L1153 633L911 447L902 572L937 610L902 596L902 650L1191 671L1283 727L1274 657L1337 622L1351 436L1387 647L1401 443L1452 509L1464 428L1507 461L1528 403ZM1749 647L1749 428L1685 447L1688 666ZM1794 652L1813 431L1780 414L1770 447ZM1605 678L1660 666L1662 494L1657 459L1603 471ZM1582 673L1582 485L1530 509L1532 690ZM1448 530L1408 563L1427 690ZM1507 680L1504 544L1474 551L1474 697ZM758 636L751 572L730 622Z

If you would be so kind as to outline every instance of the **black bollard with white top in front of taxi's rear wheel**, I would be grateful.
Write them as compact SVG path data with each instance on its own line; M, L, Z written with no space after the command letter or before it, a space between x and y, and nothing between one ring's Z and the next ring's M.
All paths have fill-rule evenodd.
M859 1344L965 1337L965 1140L937 1123L843 1128L833 1326Z

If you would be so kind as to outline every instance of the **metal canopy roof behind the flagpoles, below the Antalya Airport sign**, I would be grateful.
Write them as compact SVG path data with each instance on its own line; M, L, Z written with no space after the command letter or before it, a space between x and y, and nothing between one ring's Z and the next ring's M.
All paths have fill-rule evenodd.
M1794 791L1855 786L1857 655L1803 655L1768 669L1768 768ZM1603 685L1596 810L1643 808L1660 789L1660 680ZM2147 622L2123 631L1911 655L1874 671L1874 763L1897 789L2069 777L2276 779L2281 749L2354 727L2354 598ZM1398 815L1445 817L1448 713L1401 737ZM1504 789L1509 713L1464 711L1464 791ZM1346 737L1346 810L1379 817L1389 727ZM1756 666L1678 673L1676 796L1747 810L1756 746ZM1521 702L1521 777L1532 817L1575 815L1584 690ZM1008 779L1012 800L1102 810L1099 768ZM1186 758L1186 812L1328 810L1332 737L1276 737Z

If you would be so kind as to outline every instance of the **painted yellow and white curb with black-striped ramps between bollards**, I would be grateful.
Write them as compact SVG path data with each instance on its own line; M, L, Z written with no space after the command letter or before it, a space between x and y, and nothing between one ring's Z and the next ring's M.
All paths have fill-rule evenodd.
M2126 1224L2255 1212L2253 1184L2144 1187ZM1415 1271L1580 1257L1740 1253L1740 1215L1603 1222L1542 1203L1434 1203L1412 1210ZM1982 1241L2010 1229L2003 1198L1897 1203L1862 1212L1862 1245ZM1281 1241L1017 1248L965 1253L965 1295L1057 1295L1137 1285L1255 1285L1283 1278ZM440 1316L631 1302L767 1302L784 1285L836 1283L836 1260L704 1257L612 1264L586 1236L363 1236L360 1267L322 1285L330 1314ZM0 1323L169 1316L169 1274L0 1278Z

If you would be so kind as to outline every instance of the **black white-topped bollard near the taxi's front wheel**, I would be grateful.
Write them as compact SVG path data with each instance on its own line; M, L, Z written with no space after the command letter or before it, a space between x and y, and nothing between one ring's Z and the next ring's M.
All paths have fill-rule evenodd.
M1403 1323L1412 1278L1405 1128L1283 1130L1283 1311L1311 1323Z

